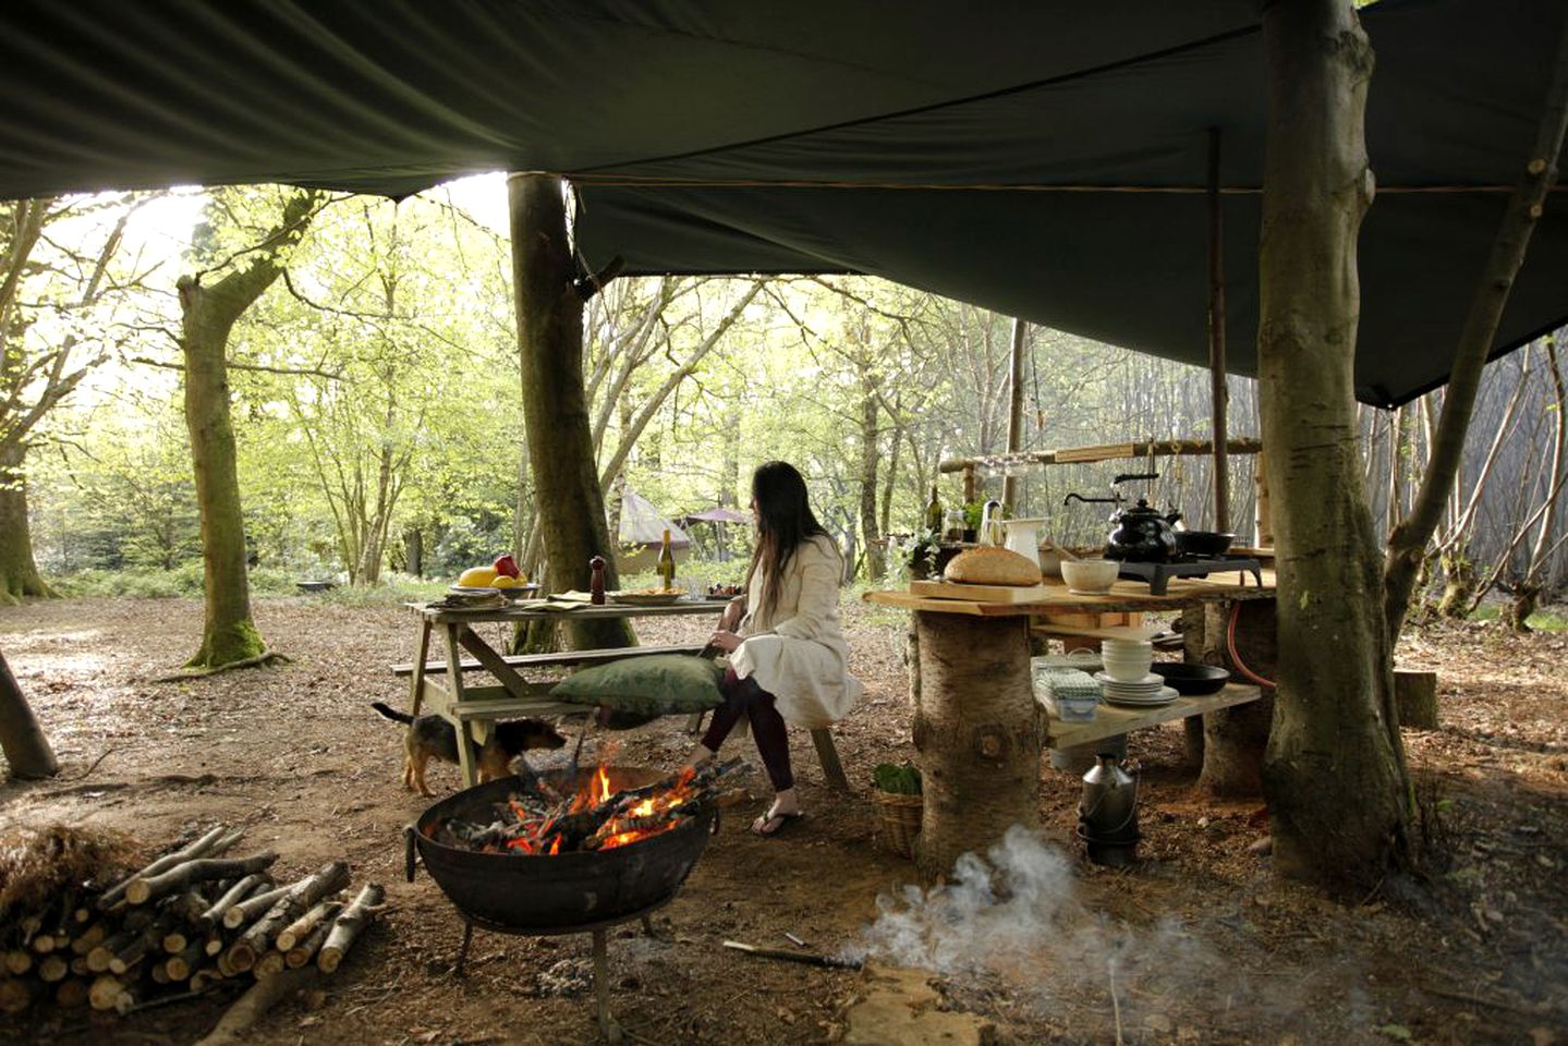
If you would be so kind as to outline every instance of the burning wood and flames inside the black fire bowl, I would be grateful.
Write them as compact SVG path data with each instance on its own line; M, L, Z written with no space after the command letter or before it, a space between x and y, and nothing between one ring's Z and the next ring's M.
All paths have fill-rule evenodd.
M612 850L648 839L726 804L729 776L750 770L735 759L685 768L652 784L612 790L605 767L582 787L557 789L543 776L519 778L521 787L492 803L494 820L447 817L428 828L434 842L486 853L555 855Z

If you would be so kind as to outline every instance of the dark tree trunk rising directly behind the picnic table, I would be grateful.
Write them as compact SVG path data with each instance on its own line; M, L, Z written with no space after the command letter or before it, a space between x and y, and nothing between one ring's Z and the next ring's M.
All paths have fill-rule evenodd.
M588 590L588 560L607 560L605 587L616 588L615 544L605 525L583 389L583 303L572 281L561 179L513 174L511 268L522 358L522 412L528 430L538 527L550 591ZM632 646L626 619L568 623L574 649Z

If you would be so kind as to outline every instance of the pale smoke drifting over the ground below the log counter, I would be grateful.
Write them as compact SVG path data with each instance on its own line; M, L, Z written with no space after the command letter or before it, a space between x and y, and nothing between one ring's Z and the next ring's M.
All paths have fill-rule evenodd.
M1308 991L1325 988L1314 977L1254 975L1262 957L1237 953L1218 921L1225 957L1174 916L1131 925L1096 911L1079 897L1074 867L1071 855L1014 825L985 858L958 858L946 884L878 897L877 921L844 955L928 969L960 999L1091 1035L1113 1026L1156 1038L1195 1027L1298 1029Z

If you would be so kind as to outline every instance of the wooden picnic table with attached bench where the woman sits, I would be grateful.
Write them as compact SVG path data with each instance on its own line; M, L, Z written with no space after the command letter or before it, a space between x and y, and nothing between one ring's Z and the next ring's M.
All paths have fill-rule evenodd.
M648 605L643 602L605 602L596 605L588 602L586 593L568 593L546 599L521 599L502 607L485 608L453 608L444 604L412 602L406 604L419 616L419 643L414 660L405 665L394 665L397 676L409 676L411 715L422 710L436 714L450 721L458 732L458 768L463 773L464 787L478 783L478 745L489 737L491 725L495 720L522 715L558 718L564 715L586 715L593 707L557 701L550 696L554 679L535 681L525 677L525 670L566 668L583 665L601 665L626 657L646 657L649 654L696 654L704 643L677 646L622 646L597 651L561 651L554 654L521 654L503 656L495 651L474 626L499 623L516 626L527 621L566 621L582 618L674 618L693 615L720 615L729 604L731 596L684 596L668 605ZM508 629L510 630L510 629ZM445 654L445 660L431 662L431 638L434 638ZM469 657L464 657L464 651ZM486 671L495 682L488 685L472 685L464 681L467 671ZM844 767L839 762L837 750L833 746L833 734L826 729L811 731L812 743L822 761L828 784L848 790Z

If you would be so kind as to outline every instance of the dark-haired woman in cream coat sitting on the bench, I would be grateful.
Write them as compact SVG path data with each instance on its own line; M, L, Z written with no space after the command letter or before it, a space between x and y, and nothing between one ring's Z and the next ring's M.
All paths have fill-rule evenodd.
M712 638L729 654L724 704L713 710L691 761L712 759L745 715L775 792L751 831L775 836L803 817L784 723L818 729L844 718L861 684L848 671L850 649L839 629L844 557L812 514L795 466L768 461L757 467L751 516L757 543L746 594L724 608Z

